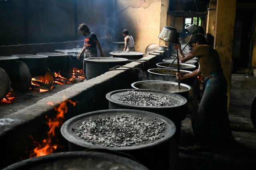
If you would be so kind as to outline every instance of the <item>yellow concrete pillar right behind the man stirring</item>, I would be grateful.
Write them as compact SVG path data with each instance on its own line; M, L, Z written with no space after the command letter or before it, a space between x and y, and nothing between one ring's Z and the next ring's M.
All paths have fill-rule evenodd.
M217 0L216 7L216 36L214 44L220 55L223 73L228 81L229 109L236 0Z

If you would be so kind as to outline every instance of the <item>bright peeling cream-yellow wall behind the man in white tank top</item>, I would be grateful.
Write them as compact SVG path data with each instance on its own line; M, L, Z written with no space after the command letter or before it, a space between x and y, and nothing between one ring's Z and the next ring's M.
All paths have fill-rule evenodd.
M161 14L164 14L161 13L161 8L164 8L161 0L116 0L115 5L115 30L120 32L116 36L117 41L123 41L121 32L127 29L136 42L136 51L145 52L148 45L159 44L160 24L164 24L161 22ZM166 16L163 16L163 20L166 23Z

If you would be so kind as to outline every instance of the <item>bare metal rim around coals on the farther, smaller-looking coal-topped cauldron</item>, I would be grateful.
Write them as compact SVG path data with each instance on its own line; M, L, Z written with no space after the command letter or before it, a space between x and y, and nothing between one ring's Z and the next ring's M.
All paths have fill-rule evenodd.
M140 91L140 92L144 92L144 93L153 93L154 95L161 95L161 96L168 96L171 97L171 99L175 98L175 101L177 102L177 104L173 104L170 106L140 106L140 105L130 105L127 103L123 103L121 101L119 101L120 95L126 91ZM159 91L159 90L154 90L154 89L121 89L121 90L115 90L115 91L111 91L109 93L107 93L106 98L117 104L117 105L121 105L121 106L126 106L126 107L133 107L133 108L143 108L143 109L167 109L167 108L173 108L173 107L179 107L182 105L185 105L187 103L187 99L185 99L185 97L181 96L181 95L177 95L175 93L170 93L170 92L166 92L166 91ZM179 104L178 104L179 103Z

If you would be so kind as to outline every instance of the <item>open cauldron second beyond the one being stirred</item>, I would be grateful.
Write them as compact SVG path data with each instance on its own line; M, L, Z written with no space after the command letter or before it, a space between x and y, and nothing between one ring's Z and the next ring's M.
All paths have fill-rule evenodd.
M166 69L177 69L178 65L177 63L157 63L157 68L166 68ZM179 69L187 70L187 71L194 71L196 70L196 65L187 64L187 63L179 63Z

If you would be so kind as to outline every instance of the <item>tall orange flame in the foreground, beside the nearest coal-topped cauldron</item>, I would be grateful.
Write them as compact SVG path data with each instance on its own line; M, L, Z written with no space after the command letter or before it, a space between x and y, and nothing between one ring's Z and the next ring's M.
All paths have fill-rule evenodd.
M68 111L67 101L69 101L73 105L73 107L76 105L76 102L67 99L66 101L60 103L60 105L58 105L57 107L54 107L54 110L57 112L57 115L54 119L49 119L46 116L46 118L48 118L47 124L50 130L47 132L47 137L42 140L41 143L33 141L34 144L37 145L37 147L33 150L34 152L32 151L32 153L30 154L30 158L51 154L58 147L58 144L53 144L52 137L55 136L55 129L63 124L64 114ZM52 102L48 102L47 104L52 106L54 105Z

